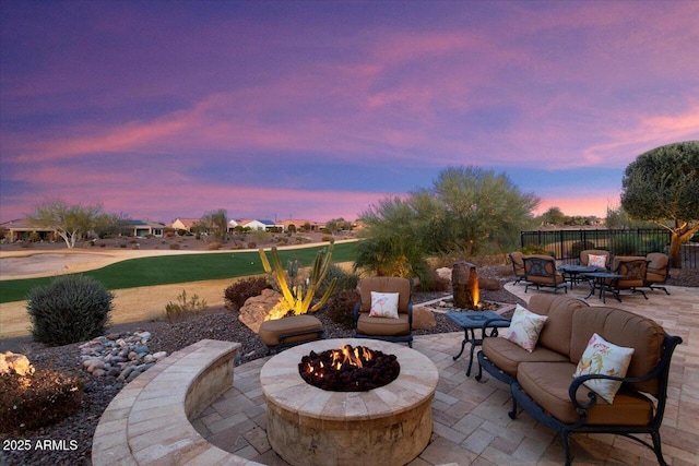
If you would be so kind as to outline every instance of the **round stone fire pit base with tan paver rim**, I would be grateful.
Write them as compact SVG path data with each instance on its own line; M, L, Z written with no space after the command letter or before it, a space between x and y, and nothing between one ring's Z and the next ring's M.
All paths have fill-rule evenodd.
M368 392L329 392L298 372L303 356L368 346L398 357L401 372ZM260 371L268 439L292 465L404 465L427 446L439 374L424 355L388 342L339 338L307 343L270 359Z

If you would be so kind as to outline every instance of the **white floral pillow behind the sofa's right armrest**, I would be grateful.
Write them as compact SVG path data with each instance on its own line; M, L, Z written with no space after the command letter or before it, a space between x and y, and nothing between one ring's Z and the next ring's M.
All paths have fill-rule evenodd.
M578 362L578 369L573 378L591 373L600 373L614 377L626 377L626 371L631 362L633 348L616 346L600 335L592 334L588 347ZM592 379L583 382L583 385L602 396L607 403L614 403L614 395L619 391L621 382L606 379Z

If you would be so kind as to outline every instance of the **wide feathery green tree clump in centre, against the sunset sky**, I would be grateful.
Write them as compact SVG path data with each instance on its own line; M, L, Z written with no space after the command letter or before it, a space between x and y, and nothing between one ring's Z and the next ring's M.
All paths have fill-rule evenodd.
M447 168L433 188L384 199L362 214L366 240L357 244L355 265L419 276L428 254L467 258L512 247L537 204L534 194L522 193L506 175L473 166Z

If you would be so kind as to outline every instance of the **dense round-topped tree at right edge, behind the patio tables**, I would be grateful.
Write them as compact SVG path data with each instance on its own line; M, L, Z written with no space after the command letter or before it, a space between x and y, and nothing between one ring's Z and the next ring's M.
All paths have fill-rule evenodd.
M639 155L624 172L621 206L631 218L672 232L670 255L682 268L679 248L699 231L699 141Z

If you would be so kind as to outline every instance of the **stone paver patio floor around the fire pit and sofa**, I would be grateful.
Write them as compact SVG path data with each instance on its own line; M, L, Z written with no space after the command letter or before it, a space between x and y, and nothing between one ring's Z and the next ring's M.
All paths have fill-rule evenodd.
M525 301L536 292L524 294L522 284L506 288ZM694 465L699 461L699 289L667 287L625 297L609 306L655 320L683 338L671 367L668 403L661 428L663 453L673 465ZM569 296L584 298L588 287L576 287ZM588 299L602 306L597 297ZM439 370L433 403L434 433L429 445L411 465L509 465L562 464L564 449L555 432L526 413L516 420L509 387L491 378L477 382L466 377L467 358L453 360L463 339L461 332L415 336L414 349L427 356ZM266 440L266 407L260 387L260 369L269 358L235 369L234 386L193 420L198 432L216 446L266 465L285 463ZM572 380L572 378L571 378ZM656 464L650 450L618 435L576 434L571 438L574 464Z

